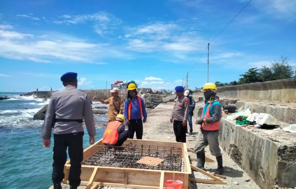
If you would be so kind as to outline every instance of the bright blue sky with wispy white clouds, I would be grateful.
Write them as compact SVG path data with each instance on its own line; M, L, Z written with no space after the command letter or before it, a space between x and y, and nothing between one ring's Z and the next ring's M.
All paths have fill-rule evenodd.
M281 56L296 69L296 0L0 0L0 91L115 80L174 89L230 82ZM213 40L214 38L214 40Z

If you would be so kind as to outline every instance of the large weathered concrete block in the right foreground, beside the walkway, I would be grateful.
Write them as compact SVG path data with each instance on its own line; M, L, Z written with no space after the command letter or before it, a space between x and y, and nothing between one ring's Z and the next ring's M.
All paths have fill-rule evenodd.
M234 121L222 118L220 146L260 188L272 189L275 184L280 187L296 187L295 138L291 134L286 136L283 131L270 135L265 132L263 129L236 126Z

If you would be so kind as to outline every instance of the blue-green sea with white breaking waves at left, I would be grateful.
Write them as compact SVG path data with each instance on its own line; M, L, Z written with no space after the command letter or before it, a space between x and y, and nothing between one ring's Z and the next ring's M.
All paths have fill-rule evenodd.
M33 116L48 101L23 93L2 93L8 100L0 100L0 189L48 189L51 183L52 147L43 148L40 130L43 121ZM94 106L103 106L99 103ZM107 115L95 115L96 124L107 124ZM97 127L96 141L103 129ZM88 147L85 129L84 148ZM53 137L52 137L53 138Z

